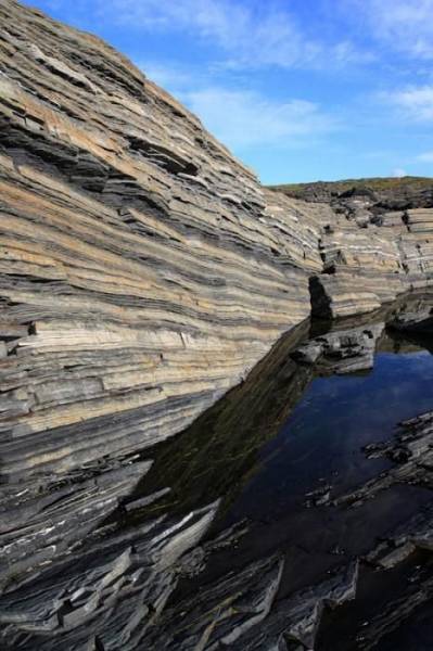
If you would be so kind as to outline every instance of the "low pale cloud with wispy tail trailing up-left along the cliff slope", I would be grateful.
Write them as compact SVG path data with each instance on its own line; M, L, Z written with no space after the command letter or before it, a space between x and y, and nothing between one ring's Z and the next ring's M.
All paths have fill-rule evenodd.
M343 128L336 115L302 98L279 100L242 84L229 85L213 71L142 62L144 74L168 89L227 146L280 150L311 146Z

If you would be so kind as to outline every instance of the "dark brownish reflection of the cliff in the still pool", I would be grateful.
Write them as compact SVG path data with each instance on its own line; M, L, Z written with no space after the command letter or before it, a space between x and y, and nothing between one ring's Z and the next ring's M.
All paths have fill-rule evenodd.
M221 498L224 510L254 473L257 450L277 434L314 376L313 369L290 357L306 333L304 324L284 335L242 384L176 439L158 446L139 490L168 485L163 506L184 510Z

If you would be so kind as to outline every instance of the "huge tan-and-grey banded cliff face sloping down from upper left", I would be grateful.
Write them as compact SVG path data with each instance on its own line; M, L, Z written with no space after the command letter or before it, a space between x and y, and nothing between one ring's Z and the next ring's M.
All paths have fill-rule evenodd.
M314 216L92 36L0 3L3 474L183 429L309 314Z

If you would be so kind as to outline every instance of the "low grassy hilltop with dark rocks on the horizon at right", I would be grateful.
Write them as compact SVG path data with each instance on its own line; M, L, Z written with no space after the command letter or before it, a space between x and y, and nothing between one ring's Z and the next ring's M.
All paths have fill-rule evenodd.
M324 203L330 203L343 196L366 194L371 195L371 199L377 201L389 202L392 199L400 204L405 204L409 200L411 205L413 205L413 201L420 203L420 205L433 202L433 178L429 177L378 177L311 183L285 183L272 186L271 190L279 190L294 199Z

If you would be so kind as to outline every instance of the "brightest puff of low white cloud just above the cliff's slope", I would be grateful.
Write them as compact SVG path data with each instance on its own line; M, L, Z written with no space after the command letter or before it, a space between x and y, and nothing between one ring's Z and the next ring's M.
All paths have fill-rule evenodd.
M180 94L206 128L233 149L300 146L335 130L336 119L305 100L269 100L254 91L209 87Z

